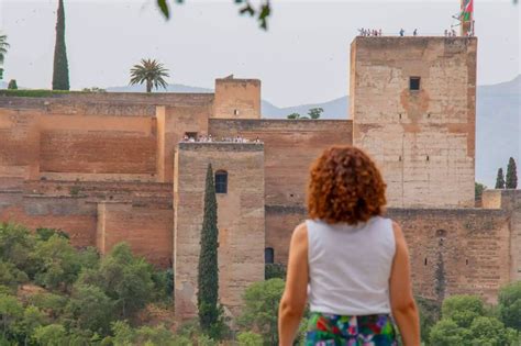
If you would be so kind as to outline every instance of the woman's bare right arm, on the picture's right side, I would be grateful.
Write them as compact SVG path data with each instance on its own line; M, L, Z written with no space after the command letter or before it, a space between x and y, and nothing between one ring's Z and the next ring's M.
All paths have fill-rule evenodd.
M401 227L392 223L396 254L389 280L392 316L400 330L404 346L420 345L420 317L412 297L409 250Z

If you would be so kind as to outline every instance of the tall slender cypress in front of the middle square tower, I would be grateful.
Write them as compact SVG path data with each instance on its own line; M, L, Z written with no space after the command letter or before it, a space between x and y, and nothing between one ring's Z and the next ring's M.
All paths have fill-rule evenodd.
M212 166L208 165L204 191L204 215L201 230L201 250L198 267L197 304L199 324L209 336L215 337L220 322L218 267L218 205Z

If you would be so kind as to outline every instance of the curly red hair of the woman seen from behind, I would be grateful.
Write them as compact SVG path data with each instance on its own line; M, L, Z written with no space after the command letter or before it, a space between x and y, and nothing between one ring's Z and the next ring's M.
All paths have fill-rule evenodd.
M325 149L311 166L310 178L311 219L357 224L384 213L386 183L370 157L356 147Z

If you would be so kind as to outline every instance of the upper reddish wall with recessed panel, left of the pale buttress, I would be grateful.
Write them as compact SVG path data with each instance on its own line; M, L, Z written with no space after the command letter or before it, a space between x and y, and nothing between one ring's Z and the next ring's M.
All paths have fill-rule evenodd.
M155 181L156 132L149 116L0 109L0 177Z

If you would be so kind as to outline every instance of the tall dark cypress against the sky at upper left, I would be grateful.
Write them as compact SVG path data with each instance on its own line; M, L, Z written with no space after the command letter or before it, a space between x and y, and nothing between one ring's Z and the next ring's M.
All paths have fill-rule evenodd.
M56 20L56 44L54 46L53 90L69 90L69 67L65 47L64 0L58 2Z

